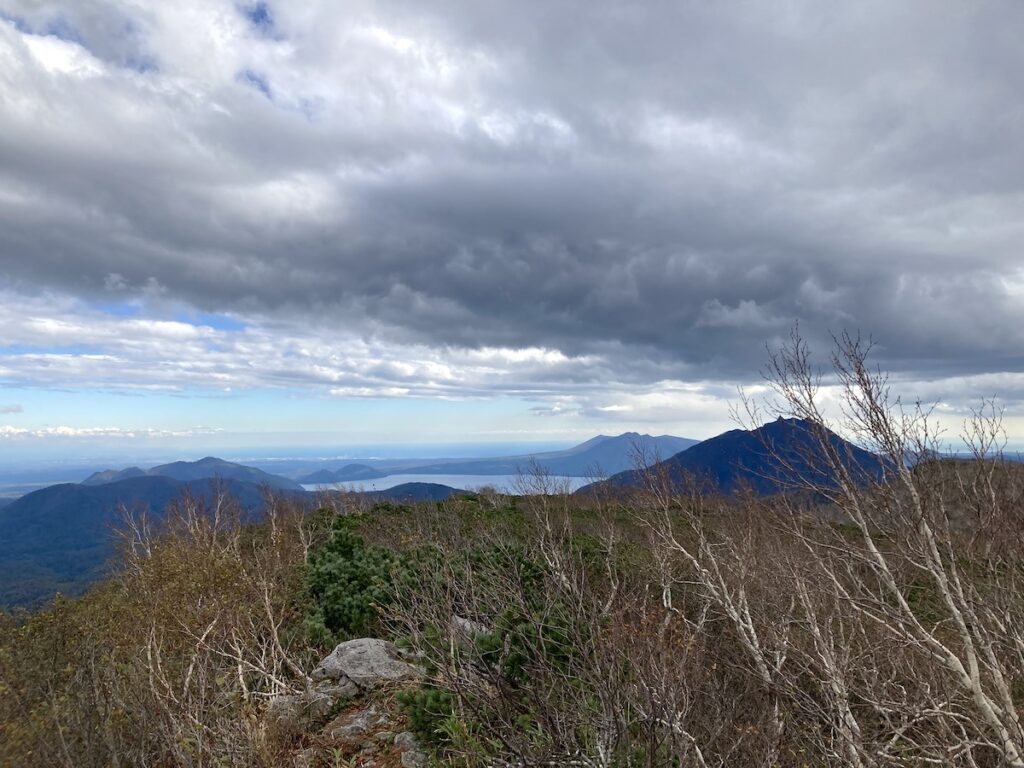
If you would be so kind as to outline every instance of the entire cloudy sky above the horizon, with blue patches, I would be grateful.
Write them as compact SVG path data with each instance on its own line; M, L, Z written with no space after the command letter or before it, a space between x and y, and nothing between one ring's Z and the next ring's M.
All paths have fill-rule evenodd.
M708 437L797 322L1024 444L1022 29L0 0L0 464Z

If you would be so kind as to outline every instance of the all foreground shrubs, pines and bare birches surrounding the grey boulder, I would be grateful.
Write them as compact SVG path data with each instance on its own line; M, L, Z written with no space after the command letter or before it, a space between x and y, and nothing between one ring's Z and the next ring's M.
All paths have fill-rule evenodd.
M539 474L256 526L227 499L129 518L115 579L4 620L0 763L362 764L267 705L376 636L425 669L392 702L439 765L1024 765L1021 468L995 413L971 461L936 459L865 359L843 339L834 362L845 431L886 460L866 484L822 426L823 471L769 498ZM826 423L799 339L771 374L780 410Z

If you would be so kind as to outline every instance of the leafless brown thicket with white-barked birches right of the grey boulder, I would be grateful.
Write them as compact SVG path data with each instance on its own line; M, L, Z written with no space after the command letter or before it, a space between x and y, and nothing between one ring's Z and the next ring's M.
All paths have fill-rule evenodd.
M653 465L581 500L524 480L518 529L422 524L391 609L451 694L466 765L1021 765L1021 468L989 404L970 461L838 340L836 431L806 346L771 360L799 450L785 493L709 493ZM774 414L773 414L774 415ZM784 474L784 473L783 473ZM444 522L440 522L444 519ZM453 530L461 534L453 535Z

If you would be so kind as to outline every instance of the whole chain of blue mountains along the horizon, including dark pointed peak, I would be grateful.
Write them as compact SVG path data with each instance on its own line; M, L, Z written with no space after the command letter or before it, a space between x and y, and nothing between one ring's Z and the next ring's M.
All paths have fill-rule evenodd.
M315 495L306 484L380 479L387 474L484 475L529 472L540 467L552 475L610 475L595 487L630 487L642 482L632 467L650 464L673 480L695 480L703 489L732 493L750 487L775 494L803 481L829 484L835 478L816 461L813 426L779 419L744 431L734 429L703 442L634 432L599 435L566 451L499 459L439 460L435 463L374 467L347 464L297 479L254 467L208 457L197 462L174 462L145 470L97 472L82 483L62 483L28 494L0 507L0 605L25 604L56 591L75 593L99 578L114 554L112 532L119 520L118 506L146 507L159 515L184 492L198 497L212 493L211 478L219 478L254 519L258 518L265 488L312 504ZM879 477L884 463L873 454L829 433L833 446L860 479ZM776 457L781 456L779 462ZM328 479L330 478L330 479ZM436 483L406 483L367 497L398 502L446 499L458 490Z

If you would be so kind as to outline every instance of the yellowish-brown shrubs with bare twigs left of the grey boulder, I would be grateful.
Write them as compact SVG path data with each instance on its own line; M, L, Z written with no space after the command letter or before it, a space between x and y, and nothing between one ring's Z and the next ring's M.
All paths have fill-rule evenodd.
M313 657L294 631L303 515L268 494L245 524L221 487L159 523L126 511L121 572L0 637L0 764L280 764L260 715Z

